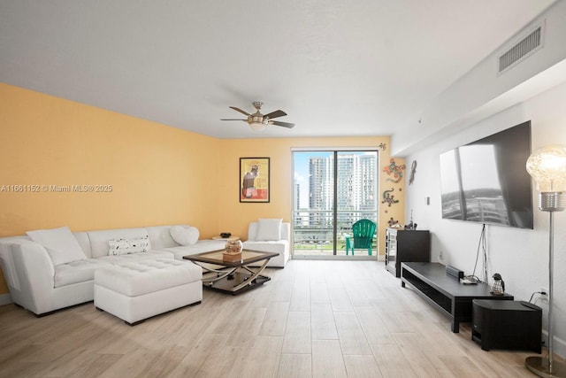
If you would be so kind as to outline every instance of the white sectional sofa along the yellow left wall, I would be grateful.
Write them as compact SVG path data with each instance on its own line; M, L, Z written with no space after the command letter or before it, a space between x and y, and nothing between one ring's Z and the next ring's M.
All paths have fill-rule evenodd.
M215 240L198 240L189 245L180 245L172 238L171 229L174 227L179 228L157 226L73 232L84 258L63 264L54 264L49 248L46 249L42 243L35 243L27 235L1 238L0 265L11 299L40 316L92 301L95 271L98 268L163 258L192 265L182 257L225 247L225 242ZM149 251L109 255L109 241L136 238L149 239ZM202 290L200 282L196 287Z

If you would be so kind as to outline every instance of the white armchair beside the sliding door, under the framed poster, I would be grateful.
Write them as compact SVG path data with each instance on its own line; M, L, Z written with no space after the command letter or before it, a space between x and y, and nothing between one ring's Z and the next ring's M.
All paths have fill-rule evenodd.
M289 243L291 238L291 225L287 222L281 223L281 235L279 240L257 240L258 222L249 223L248 240L243 243L244 249L264 252L277 252L279 256L272 258L267 263L271 267L285 267L289 259Z

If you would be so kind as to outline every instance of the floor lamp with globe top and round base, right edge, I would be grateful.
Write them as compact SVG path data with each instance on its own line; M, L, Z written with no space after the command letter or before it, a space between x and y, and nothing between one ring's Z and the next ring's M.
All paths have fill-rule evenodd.
M527 357L524 365L541 377L566 377L566 364L553 360L553 254L554 212L566 209L566 146L552 144L536 150L527 160L527 172L537 183L539 210L550 214L548 226L548 357Z

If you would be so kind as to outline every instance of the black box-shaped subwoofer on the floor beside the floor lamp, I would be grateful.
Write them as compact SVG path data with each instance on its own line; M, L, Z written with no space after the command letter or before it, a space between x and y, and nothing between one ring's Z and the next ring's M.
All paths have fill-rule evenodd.
M542 309L519 301L474 299L471 339L481 349L536 351L542 347Z

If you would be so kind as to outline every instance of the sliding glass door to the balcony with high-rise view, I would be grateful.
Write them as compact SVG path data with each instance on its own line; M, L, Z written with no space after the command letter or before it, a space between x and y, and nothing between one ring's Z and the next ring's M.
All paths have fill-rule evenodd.
M378 158L377 150L294 150L295 258L346 256L354 222L377 224Z

